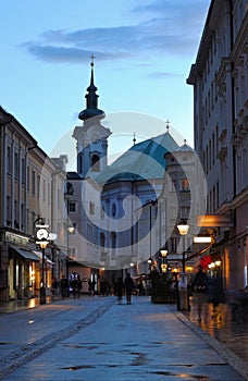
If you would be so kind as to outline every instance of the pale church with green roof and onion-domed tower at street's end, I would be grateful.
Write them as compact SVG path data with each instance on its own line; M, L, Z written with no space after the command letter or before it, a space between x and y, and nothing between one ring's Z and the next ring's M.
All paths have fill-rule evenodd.
M134 138L133 146L108 164L111 131L103 125L106 113L98 108L94 61L90 65L86 109L78 114L82 125L75 126L73 132L77 170L67 172L67 182L74 190L67 212L75 228L70 236L69 253L72 265L82 266L83 278L99 276L106 271L139 275L149 272L149 259L157 263L160 249L169 245L165 158L176 150L182 153L184 148L178 146L168 126L163 134L141 143L136 144ZM187 155L193 155L186 143L183 147ZM170 187L172 190L173 186ZM175 197L174 204L176 223L181 211Z

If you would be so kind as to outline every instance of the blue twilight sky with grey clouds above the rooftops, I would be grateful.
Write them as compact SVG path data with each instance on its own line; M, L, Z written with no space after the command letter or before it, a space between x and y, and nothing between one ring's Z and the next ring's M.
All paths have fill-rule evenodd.
M90 56L117 155L165 131L193 138L196 60L210 0L8 0L1 3L0 105L51 156L72 161ZM172 133L173 134L173 133ZM175 135L173 135L175 136ZM69 148L70 146L70 148ZM73 153L72 153L73 152Z

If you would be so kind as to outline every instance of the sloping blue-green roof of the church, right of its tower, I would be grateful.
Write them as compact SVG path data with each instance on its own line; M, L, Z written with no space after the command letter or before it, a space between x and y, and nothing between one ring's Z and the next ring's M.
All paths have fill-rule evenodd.
M169 132L132 146L109 165L96 181L100 184L115 181L163 179L166 161L164 155L178 145Z

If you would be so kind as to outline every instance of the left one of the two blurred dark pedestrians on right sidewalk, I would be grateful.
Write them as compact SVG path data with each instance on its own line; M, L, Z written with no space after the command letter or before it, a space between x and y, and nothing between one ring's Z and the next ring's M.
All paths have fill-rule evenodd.
M201 266L198 266L198 272L193 281L193 290L197 297L198 321L201 321L203 305L208 302L208 283L209 278Z

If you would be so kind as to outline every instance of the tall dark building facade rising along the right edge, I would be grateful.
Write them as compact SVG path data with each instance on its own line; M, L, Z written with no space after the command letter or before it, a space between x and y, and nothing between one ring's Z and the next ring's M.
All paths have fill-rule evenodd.
M195 148L208 183L209 214L233 219L230 251L220 245L226 284L246 284L244 256L235 238L246 235L248 132L248 12L246 0L211 1L196 63L187 83L194 86ZM237 221L238 219L238 221ZM239 239L239 238L238 238Z

